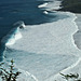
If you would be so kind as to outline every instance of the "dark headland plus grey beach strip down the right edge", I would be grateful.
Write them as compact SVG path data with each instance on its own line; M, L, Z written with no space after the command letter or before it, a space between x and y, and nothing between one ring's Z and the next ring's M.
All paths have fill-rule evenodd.
M60 3L60 9L58 10L53 10L53 11L58 11L58 12L70 12L76 14L77 18L75 19L76 24L77 24L77 28L78 30L76 31L76 33L73 35L73 40L75 40L75 44L76 46L81 50L81 1L80 0L63 0Z

